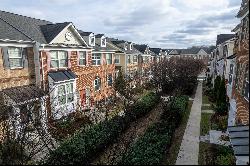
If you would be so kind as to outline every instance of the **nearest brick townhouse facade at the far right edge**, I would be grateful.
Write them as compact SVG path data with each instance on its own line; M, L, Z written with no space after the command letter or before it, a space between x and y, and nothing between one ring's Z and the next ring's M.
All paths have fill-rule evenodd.
M243 0L237 14L240 24L236 32L234 53L236 74L233 84L233 98L236 104L236 124L249 124L249 0Z

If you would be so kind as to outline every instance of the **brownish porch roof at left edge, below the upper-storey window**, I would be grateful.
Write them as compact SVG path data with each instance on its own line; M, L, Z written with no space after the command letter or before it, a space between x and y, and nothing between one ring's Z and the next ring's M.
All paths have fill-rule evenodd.
M33 85L3 89L2 93L10 97L16 104L45 96L45 92L42 89Z

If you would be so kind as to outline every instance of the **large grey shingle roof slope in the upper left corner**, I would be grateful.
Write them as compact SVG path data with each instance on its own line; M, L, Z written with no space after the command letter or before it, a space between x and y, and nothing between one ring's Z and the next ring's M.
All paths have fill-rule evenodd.
M21 16L0 10L0 18L5 21L5 24L9 24L12 28L8 29L10 32L5 35L4 31L0 31L1 37L13 40L29 40L38 41L40 43L46 43L46 39L40 29L41 25L51 24L49 21L39 20L31 17ZM2 23L1 22L1 26ZM5 25L6 27L6 25ZM23 35L17 35L17 29ZM2 30L2 29L0 29ZM17 37L16 37L17 36ZM26 36L26 37L25 37Z

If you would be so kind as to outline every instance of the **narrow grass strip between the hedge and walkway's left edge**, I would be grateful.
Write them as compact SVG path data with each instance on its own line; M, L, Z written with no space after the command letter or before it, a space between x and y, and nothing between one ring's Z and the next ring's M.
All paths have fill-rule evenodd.
M166 158L163 160L162 165L175 165L180 150L182 138L184 136L184 132L189 119L189 114L191 111L192 104L193 101L189 101L188 111L185 112L180 126L175 130L171 147L169 148L169 151L166 155Z

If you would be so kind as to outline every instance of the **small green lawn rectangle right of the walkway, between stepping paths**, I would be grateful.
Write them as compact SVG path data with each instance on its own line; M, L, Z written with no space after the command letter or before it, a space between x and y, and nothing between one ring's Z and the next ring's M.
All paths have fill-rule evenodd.
M213 114L209 113L201 113L201 126L200 126L200 135L208 134L209 130L211 129L211 116Z

